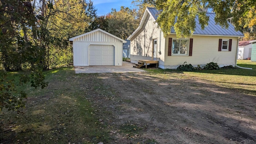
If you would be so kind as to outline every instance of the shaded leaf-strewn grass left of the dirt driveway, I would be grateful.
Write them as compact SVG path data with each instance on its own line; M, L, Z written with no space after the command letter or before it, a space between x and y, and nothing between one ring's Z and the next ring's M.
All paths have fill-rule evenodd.
M88 74L74 74L72 68L44 74L49 82L45 89L18 87L28 93L20 114L6 109L0 112L0 143L108 143L108 124L99 122L97 107L81 89L81 80ZM8 74L16 80L18 75Z

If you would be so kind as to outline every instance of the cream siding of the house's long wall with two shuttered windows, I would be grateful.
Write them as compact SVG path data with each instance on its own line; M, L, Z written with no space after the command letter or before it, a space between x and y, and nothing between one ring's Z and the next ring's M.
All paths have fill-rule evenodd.
M175 39L176 35L166 36L166 39L168 38ZM164 69L176 69L184 62L193 66L205 66L209 62L216 62L219 66L234 66L236 64L237 37L192 36L191 38L193 38L192 56L178 56L174 54L168 56L168 41L165 42ZM219 39L232 39L232 50L219 52Z

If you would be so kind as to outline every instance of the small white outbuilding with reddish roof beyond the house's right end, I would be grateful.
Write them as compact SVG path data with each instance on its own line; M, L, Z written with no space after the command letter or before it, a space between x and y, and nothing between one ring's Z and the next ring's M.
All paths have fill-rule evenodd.
M250 59L252 55L252 44L250 43L251 40L240 41L238 44L238 60L245 60Z

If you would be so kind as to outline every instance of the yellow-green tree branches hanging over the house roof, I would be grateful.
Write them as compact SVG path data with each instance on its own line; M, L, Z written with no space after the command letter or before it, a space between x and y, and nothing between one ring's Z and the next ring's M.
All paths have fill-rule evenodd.
M255 4L254 0L156 0L156 8L162 10L157 23L164 36L170 34L173 27L178 38L188 37L193 34L196 27L196 16L202 29L207 26L209 17L206 16L205 8L210 8L216 13L216 24L227 28L227 18L232 15L233 24L236 30L239 30L239 19L248 14Z

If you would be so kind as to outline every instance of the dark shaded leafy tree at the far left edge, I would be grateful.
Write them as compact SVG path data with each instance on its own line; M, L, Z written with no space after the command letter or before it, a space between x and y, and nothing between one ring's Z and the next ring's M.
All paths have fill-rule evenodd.
M42 75L42 49L36 38L38 29L34 6L25 0L0 1L0 110L18 110L25 106L26 93L18 85L30 82L34 88L47 86ZM6 71L30 68L20 80L8 77Z

